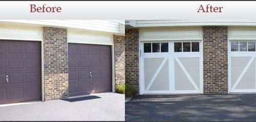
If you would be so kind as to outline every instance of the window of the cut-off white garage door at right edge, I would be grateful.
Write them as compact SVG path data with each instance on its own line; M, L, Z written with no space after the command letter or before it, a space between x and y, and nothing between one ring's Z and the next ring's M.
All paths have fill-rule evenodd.
M255 51L255 41L231 41L231 51Z

